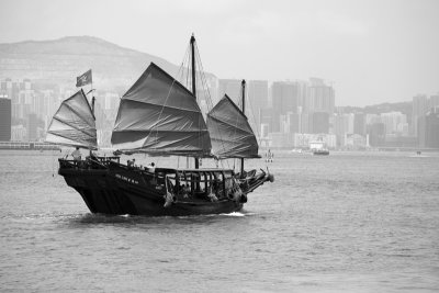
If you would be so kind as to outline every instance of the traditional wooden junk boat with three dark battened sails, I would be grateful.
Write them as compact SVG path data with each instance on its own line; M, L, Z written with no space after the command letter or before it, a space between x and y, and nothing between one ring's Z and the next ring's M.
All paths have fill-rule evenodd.
M193 35L190 49L192 91L151 63L121 98L111 143L116 154L192 157L194 168L140 168L122 164L119 156L95 156L94 97L90 105L82 89L55 113L46 142L90 150L86 159L59 158L58 173L91 213L183 216L237 212L248 193L273 182L268 169L244 170L244 159L260 158L245 115L245 80L241 109L225 94L205 122L196 102ZM240 159L240 171L201 169L202 158Z

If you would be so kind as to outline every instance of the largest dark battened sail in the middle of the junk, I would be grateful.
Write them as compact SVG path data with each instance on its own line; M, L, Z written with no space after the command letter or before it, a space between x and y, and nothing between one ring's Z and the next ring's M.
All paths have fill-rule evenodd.
M111 143L130 153L211 155L196 99L153 63L122 97Z

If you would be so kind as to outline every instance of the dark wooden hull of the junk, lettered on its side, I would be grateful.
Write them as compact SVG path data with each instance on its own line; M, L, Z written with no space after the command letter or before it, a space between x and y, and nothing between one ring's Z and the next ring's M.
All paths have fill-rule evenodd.
M81 194L92 213L113 215L185 216L237 212L243 203L222 199L177 200L165 207L166 191L154 182L154 176L122 168L60 168L67 184Z

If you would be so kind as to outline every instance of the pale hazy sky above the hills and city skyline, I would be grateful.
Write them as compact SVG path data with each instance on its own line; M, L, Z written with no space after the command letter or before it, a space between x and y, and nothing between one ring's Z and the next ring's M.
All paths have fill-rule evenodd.
M439 92L439 0L0 0L0 43L92 35L181 64L192 32L218 78L320 77L336 105Z

